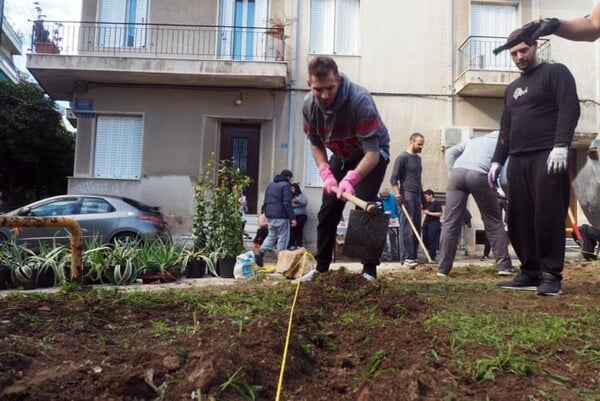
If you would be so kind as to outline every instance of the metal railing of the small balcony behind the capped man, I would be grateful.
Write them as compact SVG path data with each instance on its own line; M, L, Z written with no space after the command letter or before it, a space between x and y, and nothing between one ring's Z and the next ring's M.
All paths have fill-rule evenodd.
M506 43L505 37L469 36L458 48L456 76L466 70L519 71L508 50L495 55L494 49ZM550 41L538 40L538 57L550 60Z

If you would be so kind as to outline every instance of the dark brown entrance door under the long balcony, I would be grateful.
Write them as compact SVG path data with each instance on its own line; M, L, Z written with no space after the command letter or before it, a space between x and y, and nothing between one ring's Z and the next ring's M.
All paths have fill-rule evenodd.
M248 213L256 214L258 203L259 124L228 124L221 127L219 160L232 160L242 173L252 179L245 195Z

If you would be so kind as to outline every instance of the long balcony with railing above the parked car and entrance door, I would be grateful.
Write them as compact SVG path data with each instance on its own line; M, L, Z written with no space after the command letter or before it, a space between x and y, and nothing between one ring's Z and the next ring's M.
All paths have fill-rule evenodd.
M271 28L60 21L44 27L50 28L34 25L27 68L55 100L71 99L86 84L287 85L285 37Z

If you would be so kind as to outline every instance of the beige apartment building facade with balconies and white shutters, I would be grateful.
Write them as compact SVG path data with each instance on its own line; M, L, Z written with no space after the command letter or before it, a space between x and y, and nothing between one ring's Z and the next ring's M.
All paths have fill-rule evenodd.
M504 88L518 76L509 55L494 56L493 48L531 19L575 18L593 4L83 0L81 22L57 22L59 53L34 46L27 67L52 98L71 102L77 118L69 192L159 205L174 234L188 235L194 185L211 155L233 158L252 178L250 214L288 168L309 196L310 246L321 197L300 111L311 57L332 55L373 93L392 157L411 133L425 135L423 185L443 192L445 148L497 129ZM571 69L582 99L574 173L598 132L599 52L597 44L555 37L540 43L541 58Z

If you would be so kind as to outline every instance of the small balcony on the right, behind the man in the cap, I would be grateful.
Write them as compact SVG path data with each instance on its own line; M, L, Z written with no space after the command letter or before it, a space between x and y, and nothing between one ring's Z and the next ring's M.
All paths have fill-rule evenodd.
M506 38L470 36L458 48L454 88L459 96L503 97L509 83L519 77L510 53L497 56L493 50L503 45ZM550 60L550 42L538 40L538 57Z

